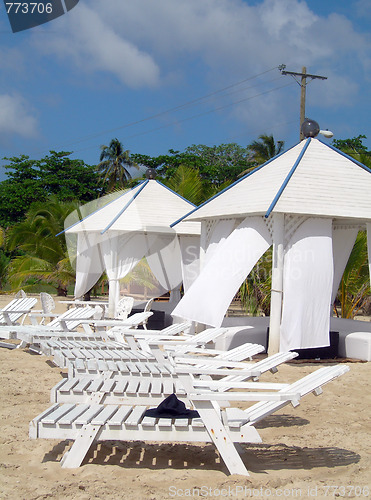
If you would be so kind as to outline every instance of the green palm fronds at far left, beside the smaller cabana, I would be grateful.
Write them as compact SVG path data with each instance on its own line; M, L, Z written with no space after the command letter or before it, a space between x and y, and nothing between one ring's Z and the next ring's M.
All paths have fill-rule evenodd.
M60 202L52 197L34 204L26 219L14 225L8 234L8 249L17 251L9 266L9 279L14 290L30 291L54 286L58 295L66 295L74 283L63 230L64 220L77 208L77 202Z

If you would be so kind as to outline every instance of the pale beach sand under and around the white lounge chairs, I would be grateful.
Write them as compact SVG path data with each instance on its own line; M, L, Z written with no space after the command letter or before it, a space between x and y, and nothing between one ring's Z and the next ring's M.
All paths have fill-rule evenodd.
M371 363L348 364L321 396L258 424L264 444L244 445L249 478L228 475L211 444L98 443L79 469L66 470L59 461L70 443L28 437L65 370L46 356L0 348L0 498L367 498ZM263 380L291 382L320 366L286 364Z

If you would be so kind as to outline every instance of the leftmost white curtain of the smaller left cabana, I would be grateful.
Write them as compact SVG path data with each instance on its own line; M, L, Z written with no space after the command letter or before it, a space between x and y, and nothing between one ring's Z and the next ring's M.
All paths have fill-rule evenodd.
M99 233L78 233L76 252L75 298L82 297L102 276L104 262L100 252Z

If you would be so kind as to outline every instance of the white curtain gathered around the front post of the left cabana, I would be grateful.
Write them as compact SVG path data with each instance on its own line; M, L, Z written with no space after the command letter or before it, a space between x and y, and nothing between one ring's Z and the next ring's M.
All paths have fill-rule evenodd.
M109 281L108 316L116 316L116 305L120 300L120 279L124 278L144 257L146 242L144 234L116 231L107 233L101 243L104 265Z

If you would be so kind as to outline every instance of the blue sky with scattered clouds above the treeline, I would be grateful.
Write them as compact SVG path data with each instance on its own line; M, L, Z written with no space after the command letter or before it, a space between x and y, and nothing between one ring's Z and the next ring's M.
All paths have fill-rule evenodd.
M370 26L369 0L80 0L12 33L1 4L0 158L96 164L113 137L153 156L271 133L288 148L300 86L281 64L327 76L308 84L306 115L371 148Z

